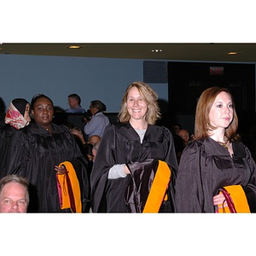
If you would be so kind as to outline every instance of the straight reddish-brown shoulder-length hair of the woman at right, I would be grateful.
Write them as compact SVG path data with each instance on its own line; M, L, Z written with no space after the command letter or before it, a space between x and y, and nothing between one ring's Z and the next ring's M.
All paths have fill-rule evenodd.
M238 135L236 135L238 128L238 118L236 114L234 98L230 94L230 90L227 88L213 86L207 90L204 90L199 98L199 101L197 102L195 111L195 134L193 136L194 140L206 138L209 136L209 131L216 129L216 127L210 124L209 113L215 98L219 93L223 91L230 96L234 112L234 116L229 127L225 129L225 137L227 137L229 141L236 141L238 139Z

